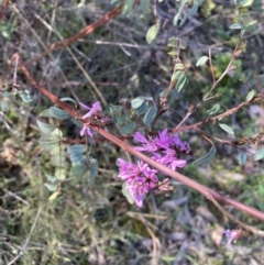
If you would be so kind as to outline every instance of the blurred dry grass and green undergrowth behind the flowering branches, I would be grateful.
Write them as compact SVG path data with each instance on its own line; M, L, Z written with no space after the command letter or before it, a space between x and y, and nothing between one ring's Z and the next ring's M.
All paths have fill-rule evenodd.
M221 97L202 104L186 124L207 118L207 111L218 101L221 113L245 101L250 88L262 91L264 35L257 1L251 7L239 7L233 1L206 0L182 26L173 24L178 2L142 2L146 5L135 5L70 45L72 53L66 48L52 51L29 63L31 74L59 98L72 97L88 104L98 100L95 86L112 104L138 96L157 100L170 82L174 63L167 54L167 41L176 36L185 47L180 59L189 84L180 92L173 91L169 110L155 130L175 128L189 106L199 102L212 84L210 67L196 67L196 62L208 55L210 47L219 77L239 35L229 26L243 18L245 24L253 20L256 24L243 37L245 48L235 59L237 69L218 85L216 93ZM91 183L89 174L69 175L59 196L48 200L45 173L55 170L55 166L50 152L37 143L41 134L36 119L52 104L20 71L16 95L13 93L14 70L10 59L14 53L23 62L36 58L52 43L73 36L117 4L118 1L107 0L12 1L4 12L0 23L0 264L263 264L263 239L248 236L237 244L224 244L223 230L237 225L205 197L180 183L172 180L175 190L168 197L150 195L142 209L131 206L117 178L116 159L123 153L101 139L92 147L99 165L95 181ZM155 23L155 10L162 26L155 41L147 44L145 35ZM238 139L254 137L262 131L262 104L251 104L226 118L224 123L232 125ZM61 129L66 144L72 140L84 141L74 123L64 122ZM204 125L202 131L232 140L211 123ZM210 147L195 131L183 132L180 137L195 152L189 162ZM260 141L257 145L261 144ZM245 151L254 153L253 147L249 145ZM238 148L220 143L217 148L211 163L201 167L189 164L182 172L264 211L262 162L250 156L241 166ZM256 219L227 209L241 221L264 229Z

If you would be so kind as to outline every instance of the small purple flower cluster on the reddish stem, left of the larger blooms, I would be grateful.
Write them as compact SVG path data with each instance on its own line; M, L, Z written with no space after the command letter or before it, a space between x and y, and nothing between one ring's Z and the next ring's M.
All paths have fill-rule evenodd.
M80 130L80 136L84 136L85 134L87 134L92 137L92 132L89 126L91 122L97 125L107 125L111 123L111 120L108 117L105 117L102 114L102 108L99 101L96 101L91 108L81 102L79 102L79 104L85 110L89 110L85 115L81 117L82 119L89 119L89 121L84 123L84 126Z

